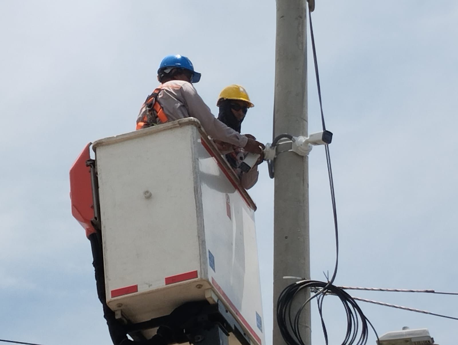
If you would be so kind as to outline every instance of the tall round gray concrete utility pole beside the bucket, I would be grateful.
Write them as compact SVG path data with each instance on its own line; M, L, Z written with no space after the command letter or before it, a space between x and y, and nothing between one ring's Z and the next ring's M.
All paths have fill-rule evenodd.
M307 1L277 0L275 101L273 136L307 135ZM278 328L277 300L296 279L310 278L308 158L284 152L275 158L273 233L273 344L286 344ZM305 301L297 298L293 312ZM311 344L310 306L302 314L300 332Z

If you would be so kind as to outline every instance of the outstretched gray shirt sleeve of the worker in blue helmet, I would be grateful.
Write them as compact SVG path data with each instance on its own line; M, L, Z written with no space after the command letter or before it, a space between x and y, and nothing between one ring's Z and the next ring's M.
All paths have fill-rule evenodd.
M223 122L215 118L210 108L197 94L191 83L184 83L181 86L183 98L190 117L195 117L202 124L203 129L213 139L218 139L237 147L245 147L248 138L229 128Z

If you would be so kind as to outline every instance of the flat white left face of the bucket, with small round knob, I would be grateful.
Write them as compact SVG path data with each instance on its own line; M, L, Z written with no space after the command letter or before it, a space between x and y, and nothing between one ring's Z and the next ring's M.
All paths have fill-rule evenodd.
M200 273L193 131L194 127L187 126L154 135L134 132L123 140L94 144L111 307L122 302L130 308L126 296L110 298L112 290L137 285L138 293L133 295L139 295L164 287L165 277ZM151 197L146 198L148 191ZM140 308L134 314L142 312L142 305L146 308L144 303L132 303Z

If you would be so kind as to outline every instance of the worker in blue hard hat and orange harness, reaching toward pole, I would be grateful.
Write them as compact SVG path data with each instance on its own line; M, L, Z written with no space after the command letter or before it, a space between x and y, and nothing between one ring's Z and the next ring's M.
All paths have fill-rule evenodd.
M161 84L143 103L137 117L136 129L195 117L213 139L234 147L243 147L247 152L261 154L264 148L262 143L249 134L240 134L213 116L192 85L200 78L201 74L194 71L191 60L186 56L165 56L158 68L158 81Z

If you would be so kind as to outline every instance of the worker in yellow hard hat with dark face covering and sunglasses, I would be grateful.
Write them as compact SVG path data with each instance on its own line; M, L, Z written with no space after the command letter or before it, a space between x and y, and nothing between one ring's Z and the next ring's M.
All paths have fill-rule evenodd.
M248 96L245 88L236 84L226 86L223 90L221 90L216 105L219 108L218 120L239 133L248 108L254 107L254 104L251 103L250 97ZM249 136L254 140L256 139L249 134L245 134L245 136ZM216 144L218 148L223 151L226 149L227 151L224 143L216 141ZM243 148L234 148L234 150L231 150L231 152L224 155L226 160L229 162L229 165L239 176L240 183L245 189L249 189L256 184L259 174L257 165L255 165L248 173L244 173L240 169L240 163L244 160L247 154L248 152ZM258 164L261 162L262 158L260 158Z

